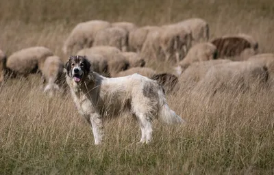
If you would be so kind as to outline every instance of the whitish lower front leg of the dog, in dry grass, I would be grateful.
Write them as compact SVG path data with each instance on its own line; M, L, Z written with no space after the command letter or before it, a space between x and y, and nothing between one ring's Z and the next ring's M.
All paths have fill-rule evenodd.
M103 141L103 122L99 113L90 114L90 124L95 138L95 145L99 145Z

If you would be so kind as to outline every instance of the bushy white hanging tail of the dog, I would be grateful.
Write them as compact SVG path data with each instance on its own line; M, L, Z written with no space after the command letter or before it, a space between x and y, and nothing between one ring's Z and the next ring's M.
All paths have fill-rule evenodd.
M175 111L170 109L169 105L166 103L166 97L162 86L161 89L158 91L158 94L160 98L160 120L162 120L162 122L165 122L166 124L184 123L185 121L180 116L178 116Z

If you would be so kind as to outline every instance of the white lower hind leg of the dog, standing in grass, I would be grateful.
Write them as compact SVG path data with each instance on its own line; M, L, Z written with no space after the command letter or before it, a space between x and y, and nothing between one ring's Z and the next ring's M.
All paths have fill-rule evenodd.
M140 143L146 143L149 144L151 142L151 134L152 134L152 124L151 124L151 119L146 116L143 113L138 113L137 115L138 122L140 124L140 129L141 129L141 139Z

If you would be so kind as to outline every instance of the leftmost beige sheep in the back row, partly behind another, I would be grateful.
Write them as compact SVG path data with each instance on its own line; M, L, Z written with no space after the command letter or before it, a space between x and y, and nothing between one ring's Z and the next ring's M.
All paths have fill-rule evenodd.
M97 31L111 27L108 21L93 20L77 24L69 37L66 38L62 51L64 54L71 54L92 46Z

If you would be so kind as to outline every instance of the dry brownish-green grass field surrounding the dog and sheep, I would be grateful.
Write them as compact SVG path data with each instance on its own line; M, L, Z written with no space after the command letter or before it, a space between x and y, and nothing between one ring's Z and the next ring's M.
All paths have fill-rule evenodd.
M272 52L271 0L0 1L0 49L10 55L47 46L65 61L62 44L82 21L102 19L162 25L201 17L210 38L244 32ZM154 63L154 64L153 64ZM170 65L149 66L169 70ZM166 98L188 123L153 122L153 142L138 145L130 118L105 124L105 143L93 144L90 126L70 94L47 98L38 76L0 87L0 174L274 174L274 94L219 94L181 90Z

